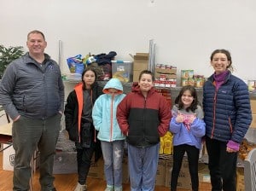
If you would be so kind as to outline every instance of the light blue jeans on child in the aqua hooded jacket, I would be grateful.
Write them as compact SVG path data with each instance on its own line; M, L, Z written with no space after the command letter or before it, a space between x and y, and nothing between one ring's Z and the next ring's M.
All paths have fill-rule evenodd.
M122 160L125 140L101 142L104 159L104 173L108 186L122 187Z

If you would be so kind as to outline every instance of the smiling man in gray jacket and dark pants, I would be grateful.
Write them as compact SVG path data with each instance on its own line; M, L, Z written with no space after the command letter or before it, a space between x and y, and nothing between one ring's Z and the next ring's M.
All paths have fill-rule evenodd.
M52 171L64 110L61 70L44 53L47 43L43 32L29 32L26 46L29 51L9 64L0 84L0 104L14 121L13 190L29 190L30 162L37 148L41 190L55 190Z

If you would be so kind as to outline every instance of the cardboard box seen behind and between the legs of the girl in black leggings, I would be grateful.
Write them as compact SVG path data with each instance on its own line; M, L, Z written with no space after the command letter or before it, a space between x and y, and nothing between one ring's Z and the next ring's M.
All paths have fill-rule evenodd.
M172 177L172 161L168 160L166 162L166 187L171 187L171 177ZM177 179L177 188L179 189L189 189L191 190L191 179L189 175L189 163L187 159L183 159L183 165L179 172Z

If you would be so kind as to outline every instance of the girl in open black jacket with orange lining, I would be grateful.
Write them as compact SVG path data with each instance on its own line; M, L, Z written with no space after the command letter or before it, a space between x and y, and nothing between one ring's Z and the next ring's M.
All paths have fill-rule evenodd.
M86 190L85 182L92 155L96 152L96 159L101 156L100 142L96 140L96 130L91 117L93 104L101 95L102 87L96 83L96 72L87 67L82 73L82 82L67 96L64 112L66 130L77 149L79 181L75 191Z

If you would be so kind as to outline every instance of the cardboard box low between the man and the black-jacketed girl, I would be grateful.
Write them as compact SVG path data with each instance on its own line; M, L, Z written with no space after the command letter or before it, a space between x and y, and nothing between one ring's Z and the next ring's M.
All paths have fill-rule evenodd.
M56 152L53 174L78 173L77 152Z

